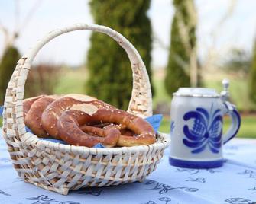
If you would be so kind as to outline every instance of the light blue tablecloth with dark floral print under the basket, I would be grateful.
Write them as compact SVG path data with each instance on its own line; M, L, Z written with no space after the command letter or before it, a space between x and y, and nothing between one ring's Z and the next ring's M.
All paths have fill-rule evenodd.
M86 188L62 196L21 180L0 136L0 203L256 203L256 139L232 139L224 155L223 167L188 169L170 166L167 149L157 170L141 183Z

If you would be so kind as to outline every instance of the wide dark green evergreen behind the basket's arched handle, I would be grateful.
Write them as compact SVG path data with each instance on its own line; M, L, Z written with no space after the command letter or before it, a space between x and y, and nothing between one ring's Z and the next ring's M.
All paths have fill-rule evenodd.
M90 2L95 24L122 33L138 49L151 80L151 23L146 14L149 6L150 0ZM90 40L86 94L127 109L131 98L132 73L125 50L102 33L92 33Z

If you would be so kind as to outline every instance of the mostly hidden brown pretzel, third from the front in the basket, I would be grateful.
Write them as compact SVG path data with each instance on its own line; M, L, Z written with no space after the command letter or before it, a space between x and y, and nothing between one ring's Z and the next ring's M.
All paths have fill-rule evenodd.
M47 137L47 135L49 135L42 127L41 116L44 109L57 98L58 97L54 95L40 97L34 101L30 110L28 110L24 123L35 135L40 137Z

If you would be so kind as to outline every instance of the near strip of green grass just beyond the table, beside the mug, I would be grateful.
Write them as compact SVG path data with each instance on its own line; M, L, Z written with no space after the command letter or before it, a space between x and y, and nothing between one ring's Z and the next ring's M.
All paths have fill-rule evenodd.
M230 123L230 118L225 117L223 132L228 129ZM159 130L160 132L170 132L170 117L164 117ZM256 139L256 116L241 116L241 127L237 136Z

